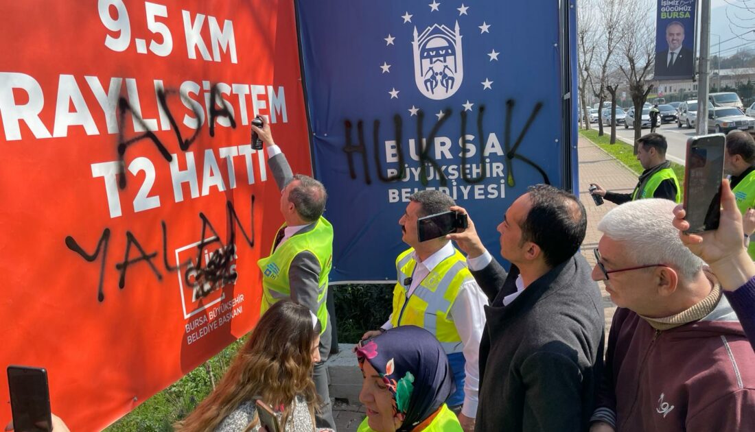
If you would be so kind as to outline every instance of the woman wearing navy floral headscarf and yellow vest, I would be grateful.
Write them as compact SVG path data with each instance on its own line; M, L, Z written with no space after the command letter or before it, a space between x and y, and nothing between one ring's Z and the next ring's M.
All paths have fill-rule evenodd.
M435 337L417 326L399 326L356 348L364 381L359 401L367 418L357 432L461 432L445 406L454 390L448 356Z

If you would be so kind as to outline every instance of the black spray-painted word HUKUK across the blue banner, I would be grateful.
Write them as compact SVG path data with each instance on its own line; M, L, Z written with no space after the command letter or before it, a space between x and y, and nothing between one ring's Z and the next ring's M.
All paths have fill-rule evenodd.
M519 145L521 145L524 137L526 136L527 132L529 131L529 128L532 127L532 123L535 121L535 118L538 117L538 114L540 110L543 108L543 103L538 102L535 103L535 106L532 108L532 112L530 112L529 118L525 122L524 126L522 127L522 130L519 131L519 135L516 136L516 140L513 142L513 145L511 143L511 118L513 115L513 109L516 103L514 100L507 100L506 101L506 119L504 124L504 153L506 155L506 169L507 169L507 184L511 187L516 184L514 176L513 176L513 166L511 161L513 159L518 159L519 161L524 162L525 164L528 164L529 166L535 168L535 170L538 171L538 173L543 176L543 182L550 184L550 179L548 179L547 173L538 166L538 164L535 164L534 161L530 160L529 158L525 158L522 155L519 155L517 153L517 150L519 149ZM448 179L446 179L446 176L444 173L442 173L442 170L440 169L440 166L438 162L430 157L430 146L426 144L426 142L433 142L435 139L438 130L440 127L442 127L442 124L448 119L451 118L451 109L445 109L443 110L443 115L439 118L438 121L436 121L436 124L433 126L433 128L430 130L430 133L427 135L427 138L424 139L424 133L423 133L423 124L424 124L424 113L422 111L419 111L417 113L417 142L418 146L420 146L420 152L418 152L418 158L419 158L419 164L421 167L421 176L420 181L422 182L422 185L427 186L428 184L428 173L430 172L430 169L435 170L436 173L438 173L440 185L445 186ZM467 112L462 111L461 113L461 137L464 137L467 132ZM477 122L476 122L476 129L478 136L483 136L483 127L482 127L482 120L485 115L485 106L481 105L478 109L478 115L477 115ZM384 169L381 163L381 157L380 157L380 146L379 146L379 130L380 130L380 121L375 120L372 125L372 141L373 141L373 149L374 149L374 161L375 161L375 168L377 172L377 177L382 182L397 182L400 179L403 178L405 175L405 158L404 158L404 152L402 149L402 118L400 115L394 115L393 116L393 125L394 125L394 133L395 133L395 139L396 139L396 152L398 156L398 172L393 174L393 176L387 176L384 174ZM346 136L346 142L344 144L344 147L342 150L347 155L347 160L349 163L349 174L351 176L351 179L356 179L356 167L355 167L355 161L354 156L356 154L359 154L362 156L362 170L364 170L365 175L365 183L371 184L372 179L370 176L370 170L369 170L369 164L368 164L368 156L367 156L367 146L365 143L365 137L364 137L364 124L362 120L357 121L356 123L356 130L357 130L357 142L355 143L353 141L353 121L347 119L344 121L344 131ZM461 165L462 167L467 166L467 142L464 139L460 139L461 146L462 146L462 152L461 152ZM479 159L480 159L480 168L481 173L479 176L470 176L467 173L467 170L462 169L461 170L461 176L467 183L478 183L482 182L486 177L485 172L485 164L483 163L484 159L484 152L479 152Z

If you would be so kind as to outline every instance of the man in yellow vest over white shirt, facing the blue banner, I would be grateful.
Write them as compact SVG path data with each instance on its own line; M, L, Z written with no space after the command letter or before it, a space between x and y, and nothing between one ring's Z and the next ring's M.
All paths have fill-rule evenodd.
M456 392L446 401L465 431L475 428L479 386L479 340L485 326L485 294L467 268L467 259L445 236L418 239L417 220L446 212L456 203L441 191L411 195L399 219L402 240L409 245L396 259L398 282L393 288L393 313L379 330L396 326L420 326L439 340L454 372Z

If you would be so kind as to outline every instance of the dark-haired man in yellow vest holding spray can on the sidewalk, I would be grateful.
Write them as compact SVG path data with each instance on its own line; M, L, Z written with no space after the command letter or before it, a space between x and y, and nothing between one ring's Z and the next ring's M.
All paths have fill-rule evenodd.
M671 163L666 160L668 144L660 133L648 133L637 139L637 160L643 166L643 173L631 194L618 194L601 188L600 185L592 190L593 195L599 195L615 204L643 198L665 198L676 203L682 202L681 188L676 174L671 169Z

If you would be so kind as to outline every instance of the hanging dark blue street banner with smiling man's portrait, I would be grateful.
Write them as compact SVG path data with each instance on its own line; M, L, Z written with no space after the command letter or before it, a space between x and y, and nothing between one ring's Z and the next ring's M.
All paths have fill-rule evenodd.
M655 79L695 76L696 0L658 0L655 30Z

